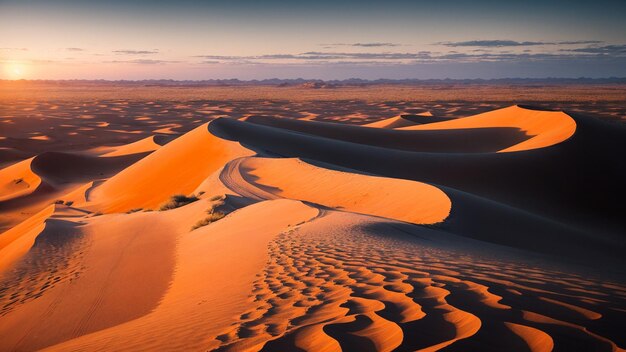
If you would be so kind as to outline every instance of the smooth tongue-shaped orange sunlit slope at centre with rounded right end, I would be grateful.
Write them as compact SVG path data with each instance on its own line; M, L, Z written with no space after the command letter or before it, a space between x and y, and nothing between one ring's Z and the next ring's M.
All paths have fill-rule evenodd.
M406 221L433 224L450 214L450 198L439 188L416 181L341 172L300 159L244 158L231 162L226 181L244 196L313 202L330 208ZM223 173L224 174L224 173Z

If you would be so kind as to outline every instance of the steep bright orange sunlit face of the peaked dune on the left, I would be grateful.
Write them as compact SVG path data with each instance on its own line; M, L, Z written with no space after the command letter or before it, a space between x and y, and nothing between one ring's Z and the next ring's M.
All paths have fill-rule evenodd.
M103 212L156 208L172 195L192 192L229 160L252 154L204 124L95 187L90 200Z

